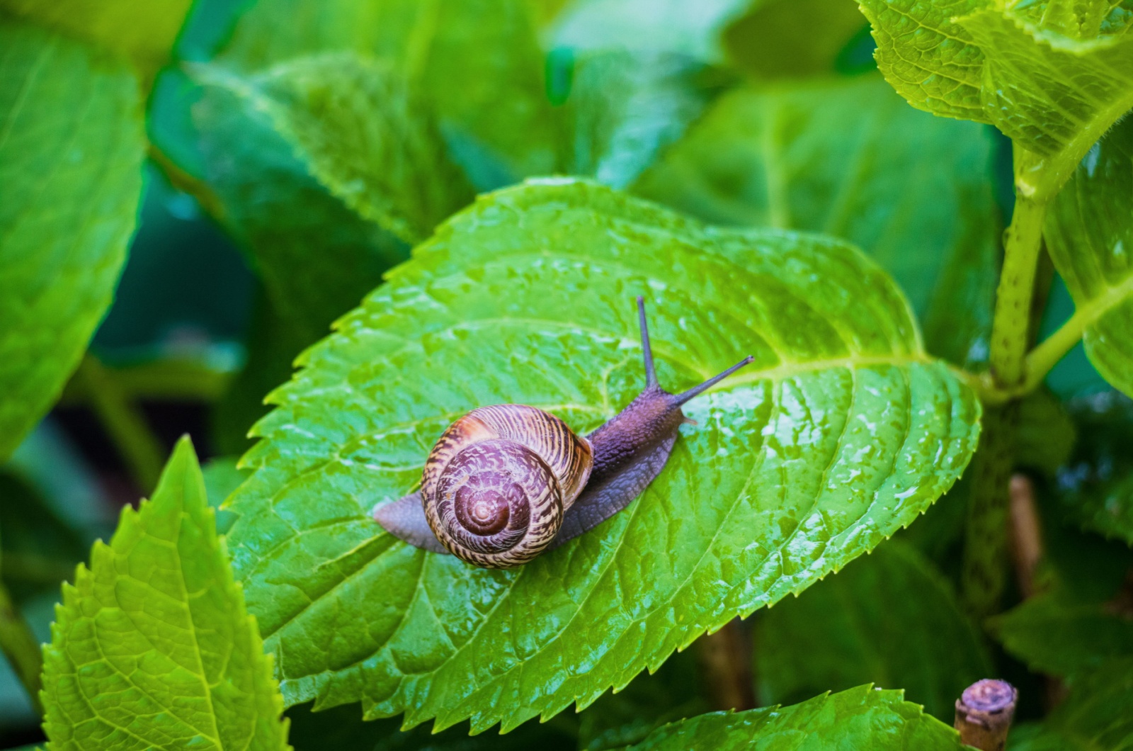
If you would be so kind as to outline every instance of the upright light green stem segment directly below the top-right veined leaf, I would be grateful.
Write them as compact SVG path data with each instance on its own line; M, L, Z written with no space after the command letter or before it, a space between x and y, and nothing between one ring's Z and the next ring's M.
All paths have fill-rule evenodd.
M1042 248L1047 204L1017 195L1004 237L1003 273L991 323L991 378L999 389L1021 387L1026 378L1031 298Z

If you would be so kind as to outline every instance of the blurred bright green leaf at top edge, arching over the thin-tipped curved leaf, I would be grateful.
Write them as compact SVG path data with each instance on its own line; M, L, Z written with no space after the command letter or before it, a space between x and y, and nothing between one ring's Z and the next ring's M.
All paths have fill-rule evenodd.
M553 171L560 135L526 0L265 0L241 17L220 61L259 70L341 50L407 76L478 189Z

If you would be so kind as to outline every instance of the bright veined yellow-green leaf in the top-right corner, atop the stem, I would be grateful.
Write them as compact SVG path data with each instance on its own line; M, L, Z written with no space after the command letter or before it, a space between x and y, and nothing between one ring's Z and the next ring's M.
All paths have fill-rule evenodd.
M861 0L886 79L917 108L989 123L1030 152L1016 187L1051 196L1133 107L1133 14L1109 0ZM1089 17L1089 19L1088 19Z

